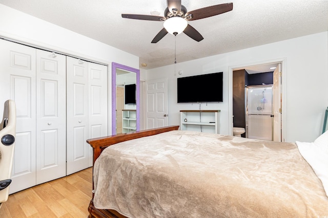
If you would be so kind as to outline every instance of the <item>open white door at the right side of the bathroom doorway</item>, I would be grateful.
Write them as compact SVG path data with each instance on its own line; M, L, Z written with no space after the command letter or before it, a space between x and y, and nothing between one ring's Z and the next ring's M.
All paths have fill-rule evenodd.
M281 63L273 72L273 141L281 142Z

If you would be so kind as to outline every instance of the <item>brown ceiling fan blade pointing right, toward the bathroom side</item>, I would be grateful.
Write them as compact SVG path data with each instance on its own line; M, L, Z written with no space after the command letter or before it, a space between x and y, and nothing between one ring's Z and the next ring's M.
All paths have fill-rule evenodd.
M211 17L211 16L215 16L215 15L218 15L218 14L226 13L228 11L231 11L232 8L233 8L232 3L213 5L213 6L209 6L209 7L206 7L206 8L200 8L200 9L196 9L196 10L193 10L193 11L188 11L186 13L185 17L187 18L187 20L202 19L202 18Z

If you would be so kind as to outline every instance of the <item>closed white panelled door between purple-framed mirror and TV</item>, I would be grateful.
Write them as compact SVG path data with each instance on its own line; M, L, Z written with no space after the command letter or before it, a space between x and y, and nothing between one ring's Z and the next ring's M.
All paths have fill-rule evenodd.
M146 128L168 126L168 79L146 82Z

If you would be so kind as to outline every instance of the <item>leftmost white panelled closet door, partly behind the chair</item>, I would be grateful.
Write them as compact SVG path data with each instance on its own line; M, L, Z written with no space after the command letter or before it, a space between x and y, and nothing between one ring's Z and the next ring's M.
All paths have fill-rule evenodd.
M15 151L9 189L9 193L14 193L36 184L36 49L6 40L0 40L0 48L0 103L7 99L16 103Z

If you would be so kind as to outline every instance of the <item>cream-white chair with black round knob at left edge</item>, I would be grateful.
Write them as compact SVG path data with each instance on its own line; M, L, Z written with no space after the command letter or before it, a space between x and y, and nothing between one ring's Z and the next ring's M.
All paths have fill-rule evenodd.
M16 105L7 100L0 124L0 207L8 200L16 136Z

